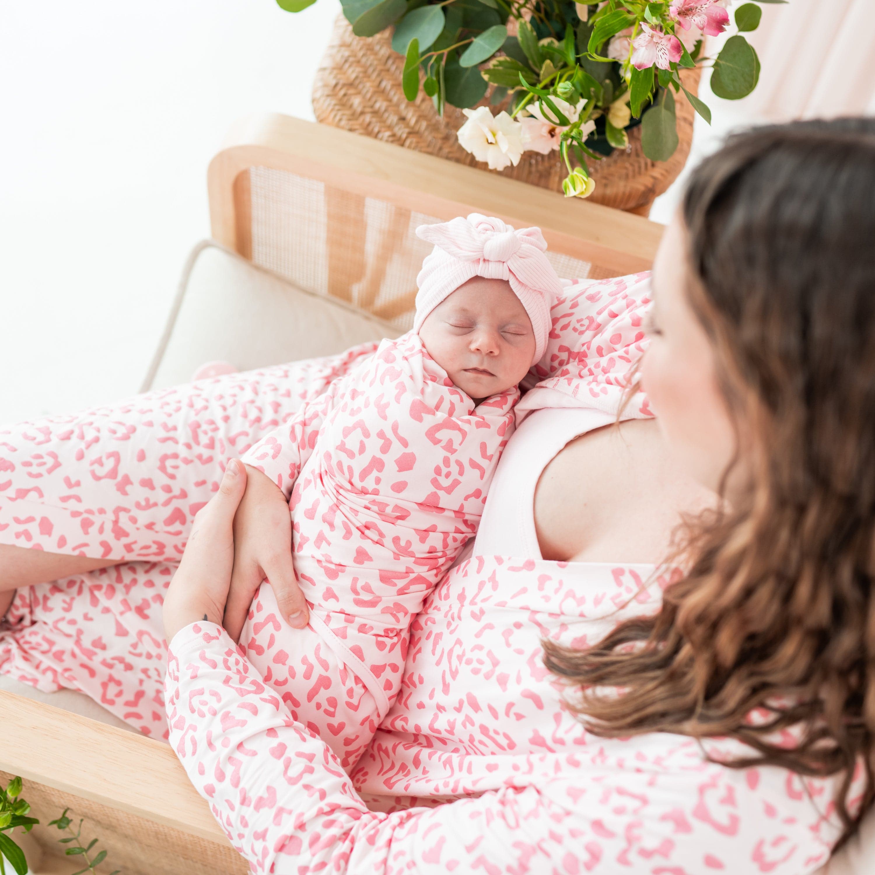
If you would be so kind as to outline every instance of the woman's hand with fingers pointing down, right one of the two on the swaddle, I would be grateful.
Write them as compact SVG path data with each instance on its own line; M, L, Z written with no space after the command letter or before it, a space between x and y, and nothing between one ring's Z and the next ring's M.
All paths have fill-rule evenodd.
M246 472L246 493L234 518L234 571L223 624L238 642L255 591L265 578L291 627L303 629L310 619L291 562L289 503L257 468L246 465Z

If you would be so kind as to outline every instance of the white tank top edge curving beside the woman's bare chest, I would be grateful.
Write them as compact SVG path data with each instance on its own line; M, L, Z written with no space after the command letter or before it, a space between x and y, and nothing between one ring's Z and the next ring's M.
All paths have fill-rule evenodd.
M535 486L544 468L569 441L615 420L615 413L581 408L546 408L527 416L495 469L473 555L542 559L535 533Z

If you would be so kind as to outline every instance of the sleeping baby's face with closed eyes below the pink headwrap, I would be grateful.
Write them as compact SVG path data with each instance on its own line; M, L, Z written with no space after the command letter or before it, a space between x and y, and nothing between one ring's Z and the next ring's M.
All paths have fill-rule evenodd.
M474 276L425 318L423 346L475 401L515 386L535 357L535 332L510 283Z

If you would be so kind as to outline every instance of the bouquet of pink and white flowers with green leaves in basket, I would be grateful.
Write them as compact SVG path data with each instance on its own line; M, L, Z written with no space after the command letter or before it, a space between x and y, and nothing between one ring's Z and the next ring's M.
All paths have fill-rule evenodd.
M311 2L277 0L292 11ZM750 94L760 63L742 33L760 24L758 4L784 2L735 9L739 32L715 58L704 56L703 39L731 26L732 0L343 0L343 9L359 36L393 28L404 95L414 101L422 88L439 115L446 104L465 111L458 142L474 158L503 170L525 151L556 151L563 192L587 197L595 186L588 162L626 151L639 125L646 158L674 154L682 90L710 121L684 86L684 69L712 66L720 97ZM478 106L490 84L489 106Z

